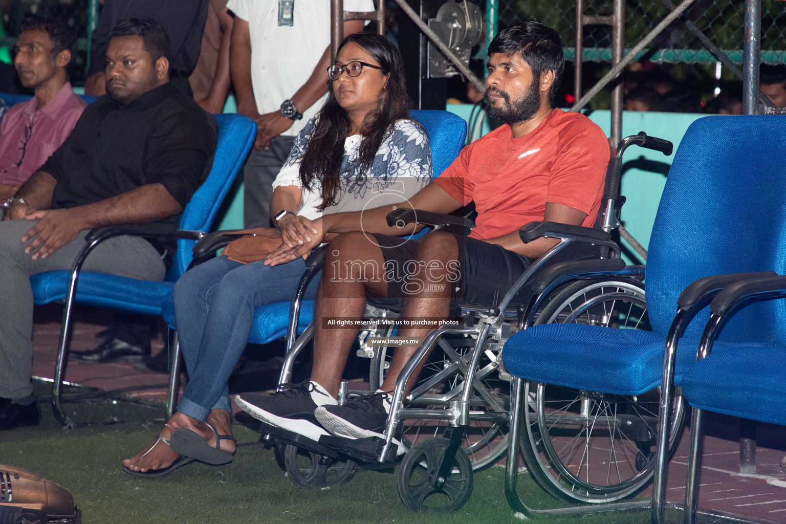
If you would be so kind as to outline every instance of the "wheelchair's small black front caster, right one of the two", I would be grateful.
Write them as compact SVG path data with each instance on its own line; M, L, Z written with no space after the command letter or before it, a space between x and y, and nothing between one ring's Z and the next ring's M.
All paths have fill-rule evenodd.
M430 438L414 445L399 467L399 497L412 511L455 511L472 495L472 463L463 449L454 457L446 478L439 467L450 441Z

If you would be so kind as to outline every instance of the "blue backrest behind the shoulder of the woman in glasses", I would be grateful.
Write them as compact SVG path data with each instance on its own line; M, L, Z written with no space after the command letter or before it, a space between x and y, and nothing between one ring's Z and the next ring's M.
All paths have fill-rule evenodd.
M432 146L434 178L450 166L467 137L467 123L460 116L436 109L413 109L410 116L423 126Z

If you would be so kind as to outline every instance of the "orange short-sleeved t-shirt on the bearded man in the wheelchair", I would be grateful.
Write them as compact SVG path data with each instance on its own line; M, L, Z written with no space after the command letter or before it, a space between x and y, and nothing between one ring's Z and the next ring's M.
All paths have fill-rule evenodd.
M545 203L587 214L592 227L601 207L608 141L578 113L555 108L531 133L513 138L505 124L465 147L434 183L464 205L475 201L476 227L487 240L542 221Z

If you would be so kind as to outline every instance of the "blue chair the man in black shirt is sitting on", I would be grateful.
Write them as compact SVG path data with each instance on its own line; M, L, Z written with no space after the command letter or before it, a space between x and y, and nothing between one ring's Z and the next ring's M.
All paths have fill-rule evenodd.
M50 271L31 277L35 304L65 300L60 347L55 368L53 408L58 420L73 426L60 404L64 364L68 357L68 332L74 302L130 313L161 314L161 301L174 283L185 273L192 258L192 248L204 233L211 230L222 201L241 170L256 135L256 125L242 115L214 115L219 127L213 166L208 178L194 192L183 210L179 229L160 224L113 225L91 231L86 249L77 257L72 271ZM162 227L163 226L163 227ZM87 253L110 236L171 236L177 238L178 251L163 281L137 280L106 273L80 272ZM72 285L75 283L76 285Z

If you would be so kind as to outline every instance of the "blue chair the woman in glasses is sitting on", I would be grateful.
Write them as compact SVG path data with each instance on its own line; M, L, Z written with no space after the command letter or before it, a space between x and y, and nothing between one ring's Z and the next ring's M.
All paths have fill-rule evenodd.
M421 123L421 126L426 130L426 134L428 134L428 141L431 143L432 148L433 176L436 178L450 166L450 163L461 152L461 148L464 147L467 123L461 117L446 111L413 110L410 111L410 116ZM266 344L288 335L291 310L290 302L275 302L258 307L254 311L254 321L248 342ZM311 324L313 315L314 301L304 300L300 302L296 325L296 333L298 335L306 331ZM170 328L177 328L174 320L174 302L171 292L163 300L162 316ZM293 342L294 336L288 337L288 343L291 345ZM174 399L179 375L179 365L172 365L172 363L178 361L179 348L176 338L172 347L169 398ZM170 405L169 409L171 412L174 406Z

